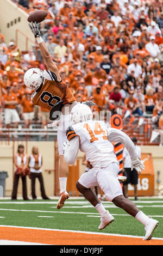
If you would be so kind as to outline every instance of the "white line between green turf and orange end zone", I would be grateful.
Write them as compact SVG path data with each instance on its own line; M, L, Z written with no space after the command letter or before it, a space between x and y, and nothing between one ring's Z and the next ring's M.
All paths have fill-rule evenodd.
M99 232L90 232L90 231L80 231L80 230L66 230L66 229L51 229L51 228L34 228L34 227L20 227L12 225L0 225L0 227L8 228L26 228L26 229L36 229L36 230L49 230L49 231L61 231L61 232L71 232L71 233L82 233L82 234L92 234L92 235L106 235L106 236L121 236L121 237L133 237L133 238L143 238L143 236L135 235L121 235L121 234L111 234L111 233L99 233ZM152 237L152 239L163 240L160 237Z

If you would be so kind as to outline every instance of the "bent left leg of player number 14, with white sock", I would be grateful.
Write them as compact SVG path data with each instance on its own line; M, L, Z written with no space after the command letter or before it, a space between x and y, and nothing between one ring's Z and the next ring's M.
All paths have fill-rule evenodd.
M114 217L109 213L109 211L106 211L103 204L99 201L96 193L91 189L91 187L95 187L97 185L98 182L95 175L95 170L92 168L89 170L89 172L84 173L80 177L76 187L77 190L83 194L83 196L95 207L95 209L101 215L101 224L98 228L103 229L112 221L114 221Z

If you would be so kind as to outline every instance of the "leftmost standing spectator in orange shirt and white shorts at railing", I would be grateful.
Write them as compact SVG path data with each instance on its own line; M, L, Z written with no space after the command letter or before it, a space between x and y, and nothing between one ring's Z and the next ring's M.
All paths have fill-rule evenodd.
M7 94L3 96L4 101L4 122L5 125L10 128L11 123L17 128L18 123L20 123L20 118L16 111L16 105L18 104L18 99L16 94L11 93L11 87L6 87Z

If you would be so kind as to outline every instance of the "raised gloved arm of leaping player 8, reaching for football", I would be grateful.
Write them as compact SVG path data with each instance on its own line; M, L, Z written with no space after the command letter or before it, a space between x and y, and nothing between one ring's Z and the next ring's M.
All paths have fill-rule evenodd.
M60 81L61 77L59 75L59 70L57 68L57 65L53 62L52 56L49 53L45 42L41 38L41 34L39 31L39 23L31 22L31 23L29 23L29 28L32 31L32 33L34 34L34 36L37 40L37 43L39 44L41 56L42 56L43 60L45 61L47 69L50 70L51 72L55 73L55 75L57 76L57 80Z

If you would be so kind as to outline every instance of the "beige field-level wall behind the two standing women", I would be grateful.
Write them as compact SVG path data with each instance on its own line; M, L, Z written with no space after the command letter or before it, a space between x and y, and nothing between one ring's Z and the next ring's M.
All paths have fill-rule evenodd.
M14 152L16 153L18 143L15 142ZM43 166L42 166L42 174L43 179L45 183L45 189L48 196L54 196L54 142L28 142L27 147L27 154L29 155L32 151L32 147L34 145L37 145L39 147L39 152L43 156ZM26 148L26 144L24 144ZM154 194L155 196L158 196L158 194L161 195L161 186L163 187L163 147L158 146L141 146L142 153L151 153L153 158L153 181L154 181ZM145 155L146 156L146 155ZM79 159L79 175L82 175L85 171L85 166L82 165L82 158L83 153L79 152L78 159ZM8 172L9 177L5 180L5 196L11 196L12 192L12 184L13 184L13 147L12 143L10 145L5 144L4 142L0 142L0 171L5 170ZM73 169L73 168L72 168ZM158 184L158 170L160 170L159 179L161 182ZM147 170L146 173L143 174L142 172L142 178L143 175L146 175L145 178L150 179L149 172ZM77 179L77 178L76 178ZM143 184L140 184L145 188L144 195L151 196L152 194L148 194L148 191L146 191L146 183L147 180L143 180ZM151 182L151 181L149 181ZM30 186L30 179L27 177L27 190L28 190L28 196L31 196L31 186ZM129 190L129 194L132 195L132 191ZM40 194L40 185L39 181L36 180L36 194L37 196L41 196ZM20 183L18 185L18 196L22 196L22 183L20 180ZM141 194L140 194L141 196ZM163 196L163 193L162 193Z

